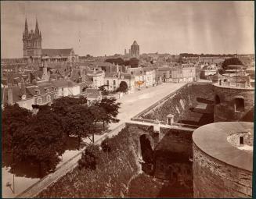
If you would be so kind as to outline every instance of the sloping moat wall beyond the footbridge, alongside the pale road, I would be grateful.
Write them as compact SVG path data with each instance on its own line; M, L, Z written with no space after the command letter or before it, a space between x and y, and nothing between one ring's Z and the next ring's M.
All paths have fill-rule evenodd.
M197 98L205 98L207 100L214 100L214 92L211 84L186 84L173 94L168 100L160 105L151 108L149 112L140 115L143 119L158 119L166 121L166 116L174 115L174 122L182 118L183 113L197 104Z

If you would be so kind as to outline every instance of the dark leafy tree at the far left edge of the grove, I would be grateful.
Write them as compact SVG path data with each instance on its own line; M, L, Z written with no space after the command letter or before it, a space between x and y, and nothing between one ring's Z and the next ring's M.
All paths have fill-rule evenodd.
M23 126L27 126L32 112L19 105L4 105L2 110L2 149L13 150L13 137L20 132Z

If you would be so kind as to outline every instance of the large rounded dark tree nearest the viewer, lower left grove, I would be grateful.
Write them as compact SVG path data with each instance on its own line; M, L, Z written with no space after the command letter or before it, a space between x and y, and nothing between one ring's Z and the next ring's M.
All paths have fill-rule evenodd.
M57 115L49 107L39 108L13 139L16 161L37 162L41 176L56 168L64 137Z

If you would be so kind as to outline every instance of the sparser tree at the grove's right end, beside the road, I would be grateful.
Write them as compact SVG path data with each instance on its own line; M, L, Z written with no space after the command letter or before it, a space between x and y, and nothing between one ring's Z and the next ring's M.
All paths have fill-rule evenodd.
M96 102L96 106L103 108L104 110L101 115L103 121L103 130L105 130L105 123L118 123L119 119L116 119L118 114L118 109L121 103L116 102L115 98L103 98L100 102Z

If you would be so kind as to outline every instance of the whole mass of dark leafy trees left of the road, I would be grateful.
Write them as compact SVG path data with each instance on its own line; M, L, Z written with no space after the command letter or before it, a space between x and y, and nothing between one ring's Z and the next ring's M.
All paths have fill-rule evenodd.
M33 114L19 105L5 105L2 110L2 149L13 158L12 166L26 161L36 163L41 175L56 168L70 136L78 138L105 130L106 123L116 123L120 103L103 98L87 105L84 97L63 97L52 105L38 106ZM99 123L103 124L103 129Z

